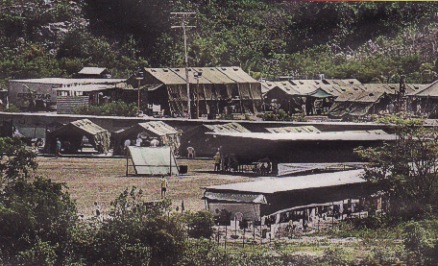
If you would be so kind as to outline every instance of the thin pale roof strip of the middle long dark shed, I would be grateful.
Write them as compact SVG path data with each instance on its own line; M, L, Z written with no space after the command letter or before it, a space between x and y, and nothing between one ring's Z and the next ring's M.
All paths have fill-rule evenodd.
M382 141L396 139L396 135L388 134L383 130L330 131L306 134L255 132L206 132L205 134L266 141Z

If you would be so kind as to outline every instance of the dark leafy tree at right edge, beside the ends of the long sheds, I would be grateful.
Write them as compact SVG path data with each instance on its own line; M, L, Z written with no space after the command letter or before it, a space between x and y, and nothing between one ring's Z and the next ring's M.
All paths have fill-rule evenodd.
M360 147L356 152L370 164L365 178L379 185L391 201L391 211L411 216L437 207L438 135L422 121L390 117L397 140L379 147Z

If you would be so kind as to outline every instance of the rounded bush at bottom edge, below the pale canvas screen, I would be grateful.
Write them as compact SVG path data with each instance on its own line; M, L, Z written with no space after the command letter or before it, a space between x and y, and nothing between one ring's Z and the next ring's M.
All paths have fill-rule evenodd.
M142 200L135 187L112 203L112 218L104 221L90 243L87 262L97 265L173 265L184 252L184 229L170 214L170 202Z

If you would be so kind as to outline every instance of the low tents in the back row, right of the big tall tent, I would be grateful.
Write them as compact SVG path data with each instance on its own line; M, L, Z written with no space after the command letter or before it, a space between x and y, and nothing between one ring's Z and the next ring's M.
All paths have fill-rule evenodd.
M331 118L411 112L431 115L436 82L430 85L362 84L356 79L289 80L262 83L265 110Z

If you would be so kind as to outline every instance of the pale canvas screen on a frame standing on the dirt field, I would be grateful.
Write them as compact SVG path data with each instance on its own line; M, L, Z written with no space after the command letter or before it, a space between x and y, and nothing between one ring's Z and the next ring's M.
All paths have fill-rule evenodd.
M129 159L132 165L129 165ZM130 175L130 167L135 175L178 175L178 165L169 146L135 147L129 146L126 157L126 175Z

